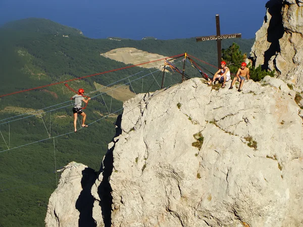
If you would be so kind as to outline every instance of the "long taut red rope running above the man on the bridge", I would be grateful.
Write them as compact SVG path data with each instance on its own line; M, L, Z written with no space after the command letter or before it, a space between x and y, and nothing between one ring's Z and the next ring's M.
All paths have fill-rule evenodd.
M181 56L181 55L184 55L184 53L177 54L177 55L174 55L174 56L170 56L169 58L175 58L176 56ZM165 59L167 59L167 58L154 60L154 61L150 61L150 62L145 62L145 63L140 63L140 64L137 64L137 65L127 66L127 67L123 67L123 68L120 68L120 69L114 69L114 70L110 70L110 71L106 71L106 72L102 72L102 73L96 73L96 74L92 74L92 75L88 75L88 76L84 76L84 77L74 78L74 79L71 79L71 80L61 81L61 82L57 82L57 83L53 83L53 84L47 84L47 85L43 85L43 86L40 86L40 87L34 87L34 88L22 90L22 91L16 91L16 92L8 93L8 94L3 94L3 95L0 95L0 98L4 97L4 96L8 96L8 95L22 93L22 92L25 92L25 91L36 90L36 89L40 89L40 88L44 88L44 87L57 85L57 84L67 83L67 82L74 81L74 80L80 80L80 79L87 78L87 77L93 77L93 76L97 76L97 75L101 75L101 74L106 74L106 73L110 73L110 72L115 72L115 71L119 71L119 70L123 70L123 69L132 68L132 67L135 67L135 66L141 66L141 65L144 65L144 64L148 64L148 63L158 62L158 61L165 60Z

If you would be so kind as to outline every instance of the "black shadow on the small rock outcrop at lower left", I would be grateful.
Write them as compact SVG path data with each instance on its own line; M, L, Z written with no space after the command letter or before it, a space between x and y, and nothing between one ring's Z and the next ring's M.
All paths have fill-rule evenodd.
M85 168L82 171L82 191L76 201L76 209L79 210L79 227L95 227L96 222L92 217L94 198L91 195L91 187L97 179L97 174L92 168Z

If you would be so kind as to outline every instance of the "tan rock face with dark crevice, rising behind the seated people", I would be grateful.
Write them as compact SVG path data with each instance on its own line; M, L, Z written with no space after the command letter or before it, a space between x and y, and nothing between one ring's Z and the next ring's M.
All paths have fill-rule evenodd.
M303 88L303 1L270 0L250 58Z

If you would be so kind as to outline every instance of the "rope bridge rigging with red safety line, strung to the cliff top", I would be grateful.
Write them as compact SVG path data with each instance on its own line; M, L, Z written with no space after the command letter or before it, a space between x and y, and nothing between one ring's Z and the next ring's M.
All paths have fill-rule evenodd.
M134 82L134 81L136 81L136 80L142 79L141 93L143 93L143 78L145 78L146 76L151 75L151 76L154 78L154 80L153 80L153 83L152 83L152 84L150 85L150 87L148 88L148 91L151 89L151 87L152 87L155 83L157 83L157 84L159 85L159 87L161 88L161 86L160 86L160 84L158 83L157 79L158 79L158 77L160 76L160 73L162 72L162 70L165 70L165 68L169 68L169 69L171 69L171 70L173 71L173 73L177 72L177 73L179 73L179 74L182 75L182 74L184 73L184 69L183 69L183 72L182 72L182 70L180 70L180 69L176 66L176 64L178 64L178 63L180 63L180 62L183 62L183 66L185 66L186 63L189 62L189 63L191 64L191 66L192 66L193 68L195 68L195 69L200 73L200 75L201 75L202 77L204 77L204 78L206 78L206 79L209 78L209 76L204 72L204 70L207 71L207 69L204 69L203 67L201 67L201 66L199 66L198 64L196 64L196 63L193 61L193 59L192 59L192 58L194 58L193 56L187 55L187 59L184 58L184 59L182 59L182 60L179 61L179 62L173 62L174 60L179 59L179 58L181 58L182 56L184 56L184 54L175 55L175 56L171 57L172 59L170 59L170 60L167 60L167 58L161 59L161 60L165 60L164 67L163 67L162 69L156 70L156 71L154 71L154 72L151 72L151 70L150 70L151 68L149 68L149 69L146 69L146 70L149 70L150 73L148 73L148 74L146 74L146 75L144 75L144 76L140 76L139 78L136 78L136 79L134 79L134 80L130 80L131 77L133 77L133 76L135 76L135 75L138 75L138 74L140 74L140 73L142 73L142 72L144 72L144 71L146 71L146 70L143 70L143 71L141 71L141 72L138 72L138 73L136 73L136 74L133 74L133 75L131 75L131 76L128 76L128 77L126 77L126 78L123 78L123 79L121 79L121 80L115 81L115 82L113 82L113 83L111 83L111 84L109 84L109 85L107 85L107 86L105 86L105 87L112 86L112 85L114 85L114 84L116 84L116 83L119 83L119 82L121 82L121 81L123 81L123 80L128 80L127 83L124 83L124 84L122 84L122 85L120 85L120 86L117 86L117 87L111 89L110 91L112 91L112 93L113 93L113 90L114 90L114 89L117 89L117 88L119 88L119 87L121 87L121 86L124 86L124 85L126 85L126 84L129 84L130 87L132 88L133 92L135 93L135 90L134 90L134 88L133 88L133 86L132 86L131 83ZM189 56L190 56L191 58L190 58ZM196 59L196 60L198 60L198 61L201 61L201 60L199 60L199 59L197 59L197 58L194 58L194 59ZM156 60L156 61L161 61L161 60ZM156 62L156 61L151 61L151 62ZM151 62L148 62L148 63L151 63ZM203 62L203 61L201 61L201 62ZM138 65L135 65L135 66L140 66L140 65L143 65L143 64L147 64L147 63L142 63L142 64L138 64ZM207 64L207 63L206 63L206 64ZM209 64L209 65L210 65L210 64ZM71 82L71 81L73 81L73 80L83 79L83 78L86 78L86 77L91 77L91 76L101 75L101 74L105 74L105 73L109 73L109 72L114 72L114 71L118 71L118 70L130 68L130 67L134 67L134 66L124 67L124 68L120 68L120 69L116 69L116 70L111 70L111 71L107 71L107 72L103 72L103 73L98 73L98 74L93 74L93 75L89 75L89 76L85 76L85 77L75 78L75 79L68 80L68 81L58 82L58 83L54 83L54 84L48 84L48 85L40 86L40 87L37 87L37 88L31 88L31 89L27 89L27 90L23 90L23 91L19 91L19 92L13 92L13 93L10 93L10 94L0 95L0 98L1 98L1 97L4 97L4 96L7 96L7 95L12 95L12 94L20 93L20 92L25 92L25 91L40 89L40 88L42 88L42 87L53 86L53 85L62 84L62 83L63 83L63 84L65 85L65 87L68 88L70 91L72 91L72 92L74 92L74 93L77 94L78 92L75 91L73 88L71 88L71 87L68 85L68 82ZM216 68L216 67L215 67L215 68ZM154 74L155 74L156 72L159 72L159 74L158 74L158 76L155 77ZM156 75L156 74L155 74L155 75ZM190 79L190 77L189 77L188 75L186 75L185 73L184 73L184 77L186 77L187 79ZM169 87L171 87L171 86L174 86L174 85L170 85ZM168 88L168 87L167 87L167 88ZM167 88L166 88L166 89L167 89ZM166 89L164 89L164 90L166 90ZM97 94L92 95L91 98L95 98L95 97L97 97L97 96L100 95L100 96L102 97L104 103L105 103L105 106L106 106L107 110L108 110L108 115L103 116L102 118L97 119L97 120L95 120L95 121L93 121L93 122L91 122L91 123L89 123L89 124L87 124L87 125L92 125L92 124L94 124L94 123L96 123L96 122L98 122L98 121L100 121L100 120L106 119L107 117L109 117L109 116L111 116L111 115L114 115L115 113L118 113L118 112L120 112L121 110L123 110L123 108L120 108L120 109L118 109L118 110L115 110L115 111L111 112L111 111L112 111L112 99L113 99L113 95L111 95L111 103L110 103L110 106L108 106L108 104L106 103L106 101L105 101L105 99L104 99L104 97L103 97L103 94L109 93L110 91L101 92L100 90L102 90L102 88L101 88L101 89L96 89L96 90L94 90L94 91L91 91L91 92L87 93L87 95L88 95L88 94L93 94L93 93L97 92ZM162 90L162 91L160 91L160 92L163 92L164 90ZM147 92L148 92L148 91L147 91ZM86 95L83 95L83 96L84 96L84 97L89 97L89 96L86 96ZM144 95L142 95L142 99L143 99L143 97L144 97ZM9 142L8 142L8 144L7 144L7 142L6 142L6 140L5 140L5 137L3 136L3 134L2 134L2 132L1 132L1 130L0 130L0 134L1 134L1 136L2 136L2 138L3 138L3 140L4 140L5 144L6 144L6 146L7 146L7 148L8 148L8 149L5 149L5 150L0 151L0 153L5 152L5 151L9 151L9 150L12 150L12 149L17 149L17 148L21 148L21 147L24 147L24 146L28 146L28 145L31 145L31 144L43 142L43 141L46 141L46 140L53 139L53 146L54 146L54 153L53 153L53 155L54 155L54 159L55 159L55 163L54 163L54 164L55 164L56 185L57 185L57 184L58 184L58 179L57 179L57 163L56 163L55 138L67 136L67 135L69 135L69 134L74 133L74 131L72 131L72 132L67 132L67 133L63 133L63 134L56 135L56 136L55 136L55 135L52 136L52 135L51 135L52 111L55 111L55 110L58 110L58 109L62 109L62 108L67 108L67 107L70 107L71 105L73 105L73 104L68 104L68 105L66 105L67 102L70 102L70 100L65 101L65 102L62 102L62 103L58 103L58 104L55 104L55 105L52 105L52 106L47 106L47 107L41 108L41 109L39 109L39 110L35 110L35 111L32 111L32 112L27 112L27 113L22 113L21 115L18 115L18 116L14 116L14 117L10 117L10 118L7 118L7 119L2 119L2 120L0 120L0 122L2 122L2 123L0 123L0 126L3 125L3 124L7 124L7 123L9 124ZM58 106L59 106L59 107L58 107ZM85 109L86 106L87 106L87 103L86 103L85 107L83 107L83 109ZM55 107L55 108L54 108L54 107ZM108 107L110 107L110 108L108 108ZM50 110L47 110L47 111L44 111L44 110L49 109L49 108L51 108L51 109L50 109ZM136 108L136 107L134 107L134 108ZM130 111L131 111L131 110L129 110L128 112L130 112ZM44 122L43 117L42 117L42 115L45 114L45 113L47 113L47 112L49 112L50 115L51 115L51 117L50 117L50 119L49 119L49 129L46 127L46 124L45 124L46 121ZM36 114L30 115L30 116L25 116L25 115L28 115L29 113L36 113ZM127 113L127 112L125 112L125 114L126 114L126 113ZM25 117L24 117L24 116L25 116ZM27 118L33 117L33 116L39 116L39 117L40 117L40 119L41 119L41 121L42 121L42 123L43 123L43 125L44 125L44 128L45 128L45 130L46 130L47 138L41 139L41 140L38 140L38 141L33 141L33 142L30 142L30 143L27 143L27 144L23 144L23 145L20 145L20 146L16 146L16 147L11 147L11 145L10 145L10 134L11 134L10 123L11 123L11 122L14 122L14 121L22 120L22 119L27 119ZM21 117L21 118L20 118L20 117ZM16 118L18 118L18 119L16 119ZM81 130L81 129L82 129L82 128L80 128L79 130ZM52 130L52 132L55 132L55 131ZM54 133L52 133L52 134L54 134ZM2 192L2 191L4 191L4 190L1 190L1 189L0 189L0 192Z

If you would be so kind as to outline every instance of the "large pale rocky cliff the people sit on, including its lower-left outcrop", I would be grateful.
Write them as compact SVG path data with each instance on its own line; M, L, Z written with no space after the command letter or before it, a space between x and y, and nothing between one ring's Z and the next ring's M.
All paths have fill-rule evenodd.
M242 92L194 78L138 94L100 173L66 166L46 226L303 226L294 98L270 77Z

